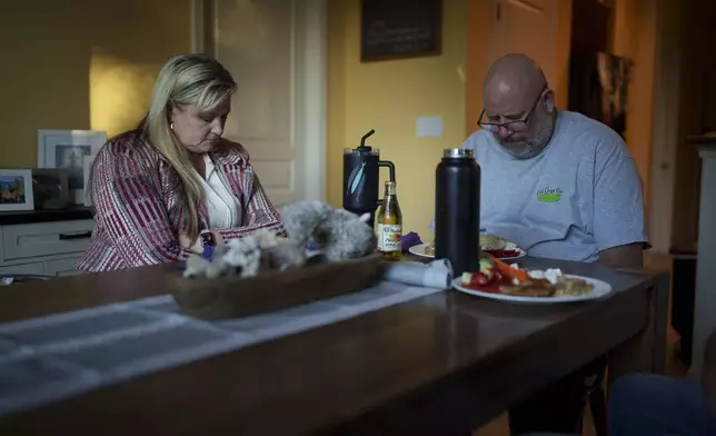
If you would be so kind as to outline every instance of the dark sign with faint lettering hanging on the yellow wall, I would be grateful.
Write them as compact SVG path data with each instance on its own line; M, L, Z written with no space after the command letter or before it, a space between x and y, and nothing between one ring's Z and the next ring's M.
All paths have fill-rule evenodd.
M441 51L441 0L362 0L360 60L436 56Z

